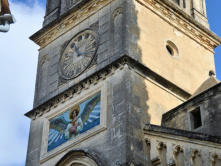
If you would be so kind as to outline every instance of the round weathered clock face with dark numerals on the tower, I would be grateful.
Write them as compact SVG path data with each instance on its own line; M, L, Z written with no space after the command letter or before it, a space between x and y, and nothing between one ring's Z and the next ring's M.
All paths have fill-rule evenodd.
M60 73L64 79L73 79L84 72L93 60L98 43L95 32L85 30L77 34L65 48L60 59Z

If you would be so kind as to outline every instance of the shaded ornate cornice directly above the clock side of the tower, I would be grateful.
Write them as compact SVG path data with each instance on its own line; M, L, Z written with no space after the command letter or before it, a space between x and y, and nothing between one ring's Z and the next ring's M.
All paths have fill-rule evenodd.
M109 4L113 0L91 0L82 6L80 9L76 9L67 16L61 16L58 20L50 23L48 26L42 28L34 35L30 37L41 48L44 48L49 43L56 40L61 35L87 19L89 16L97 13L98 10Z

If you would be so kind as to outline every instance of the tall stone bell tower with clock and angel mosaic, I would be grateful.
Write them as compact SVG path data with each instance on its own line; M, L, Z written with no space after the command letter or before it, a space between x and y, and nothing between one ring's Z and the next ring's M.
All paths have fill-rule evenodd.
M27 166L168 163L146 124L208 79L221 43L205 0L48 0L31 39L40 49Z

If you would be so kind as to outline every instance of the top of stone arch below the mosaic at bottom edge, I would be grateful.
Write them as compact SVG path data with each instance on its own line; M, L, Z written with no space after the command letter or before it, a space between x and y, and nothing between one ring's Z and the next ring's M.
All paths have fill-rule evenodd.
M71 151L56 166L101 166L101 164L84 151Z

